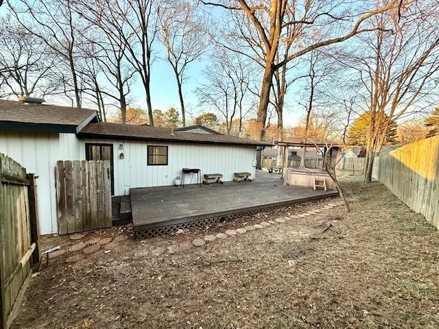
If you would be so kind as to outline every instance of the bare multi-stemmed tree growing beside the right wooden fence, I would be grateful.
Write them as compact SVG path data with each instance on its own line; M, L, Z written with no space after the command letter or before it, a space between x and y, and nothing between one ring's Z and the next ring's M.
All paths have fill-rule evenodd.
M439 72L439 3L425 1L375 16L377 30L359 36L365 51L349 49L341 61L357 72L367 96L368 141L364 181L392 127L431 101Z

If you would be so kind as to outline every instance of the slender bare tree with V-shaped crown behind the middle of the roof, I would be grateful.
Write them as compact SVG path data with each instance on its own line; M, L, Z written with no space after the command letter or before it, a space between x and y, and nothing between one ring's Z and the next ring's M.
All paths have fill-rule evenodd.
M167 51L167 61L176 77L180 98L182 125L186 126L182 84L189 64L200 58L209 47L208 34L197 5L187 0L167 0L161 5L160 38Z

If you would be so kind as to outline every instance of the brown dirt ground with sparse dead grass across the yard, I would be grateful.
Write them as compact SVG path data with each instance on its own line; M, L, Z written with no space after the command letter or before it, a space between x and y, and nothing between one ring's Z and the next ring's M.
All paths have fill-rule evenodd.
M62 252L31 279L12 328L439 328L438 230L377 182L344 186L348 214L291 217L331 199L166 239L123 240L124 226L45 241ZM93 239L112 242L64 252Z

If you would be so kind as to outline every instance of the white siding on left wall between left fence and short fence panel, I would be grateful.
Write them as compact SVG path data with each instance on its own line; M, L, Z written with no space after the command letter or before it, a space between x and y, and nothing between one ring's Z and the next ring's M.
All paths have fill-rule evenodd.
M58 232L55 190L55 167L60 160L58 134L0 132L0 153L19 162L27 173L38 175L40 233Z

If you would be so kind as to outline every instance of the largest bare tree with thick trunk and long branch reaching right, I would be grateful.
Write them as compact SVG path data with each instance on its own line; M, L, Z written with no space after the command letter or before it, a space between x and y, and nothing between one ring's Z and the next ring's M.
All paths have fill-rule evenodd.
M261 64L263 65L263 77L261 82L261 97L259 102L257 123L258 128L255 138L263 140L265 131L265 121L267 119L267 108L270 103L270 93L273 84L274 72L284 66L286 63L305 55L313 49L333 45L337 42L348 40L353 36L369 32L374 27L361 26L366 23L372 16L385 12L390 8L401 6L401 1L392 0L387 5L375 8L375 3L371 1L368 4L372 9L359 13L351 13L350 8L356 8L351 3L350 8L346 10L344 1L292 1L292 0L272 0L268 1L248 1L235 0L227 3L219 3L216 1L201 0L206 5L214 5L219 8L225 8L230 12L238 12L243 19L248 21L248 29L241 32L250 33L244 38L250 39L251 49L255 51L257 56L261 56ZM365 2L365 1L363 1ZM340 31L340 24L348 25L348 21L355 18L353 25L349 26L349 31L341 35L334 36L334 31ZM297 48L289 53L289 55L276 62L276 54L283 42L286 27L294 26L300 40ZM346 26L343 26L346 29ZM332 33L327 33L332 32ZM330 37L325 37L329 35ZM319 37L322 36L322 37ZM256 43L255 43L256 42ZM233 49L240 51L239 49ZM242 51L240 51L242 52ZM243 52L244 53L244 52ZM247 56L248 53L245 53ZM252 56L250 56L252 57ZM256 60L258 60L256 58Z

